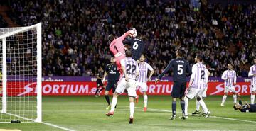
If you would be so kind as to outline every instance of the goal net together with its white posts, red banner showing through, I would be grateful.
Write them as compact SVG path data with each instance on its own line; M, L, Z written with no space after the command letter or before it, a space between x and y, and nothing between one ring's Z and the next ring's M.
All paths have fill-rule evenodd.
M0 28L0 123L41 122L41 23Z

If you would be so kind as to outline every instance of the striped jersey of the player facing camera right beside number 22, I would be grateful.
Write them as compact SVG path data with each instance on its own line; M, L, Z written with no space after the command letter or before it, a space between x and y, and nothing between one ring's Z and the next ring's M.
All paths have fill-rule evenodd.
M139 77L138 82L146 83L148 70L153 71L153 68L146 62L139 63Z

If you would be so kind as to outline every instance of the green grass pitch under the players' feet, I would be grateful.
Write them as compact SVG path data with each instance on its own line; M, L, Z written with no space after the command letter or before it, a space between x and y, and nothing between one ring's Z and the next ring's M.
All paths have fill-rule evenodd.
M111 96L112 97L112 96ZM191 116L181 120L181 106L177 102L177 119L171 118L171 96L149 96L148 111L144 113L143 97L139 98L134 113L134 124L129 124L129 100L119 96L114 116L107 117L105 97L44 96L43 122L70 130L256 130L256 113L240 113L233 109L233 96L228 96L225 107L220 107L222 96L205 98L212 117ZM250 102L250 96L243 96ZM189 102L188 113L196 108L195 100ZM0 124L0 129L61 130L42 123Z

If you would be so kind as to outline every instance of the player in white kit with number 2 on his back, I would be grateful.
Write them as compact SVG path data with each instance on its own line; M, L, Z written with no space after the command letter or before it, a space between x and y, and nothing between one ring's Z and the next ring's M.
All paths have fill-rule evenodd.
M209 117L210 111L206 107L206 103L204 103L202 96L206 89L208 70L206 66L202 64L203 57L201 55L197 55L195 58L196 64L192 67L192 75L188 84L188 90L186 92L186 96L184 98L185 101L185 114L183 114L182 118L188 118L188 99L192 99L196 97L197 101L203 108L204 113L206 113L206 118Z

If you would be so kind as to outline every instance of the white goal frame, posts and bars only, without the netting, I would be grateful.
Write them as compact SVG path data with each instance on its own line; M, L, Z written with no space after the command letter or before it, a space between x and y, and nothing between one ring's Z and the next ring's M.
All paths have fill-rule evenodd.
M42 122L42 61L41 61L41 57L42 57L42 45L41 45L41 42L42 42L42 23L37 23L35 25L31 25L31 26L26 26L26 27L19 27L20 29L18 30L14 30L10 33L6 33L6 34L3 34L3 35L0 35L0 40L2 40L2 47L3 47L3 63L2 63L2 110L1 110L1 113L6 113L8 115L15 115L16 117L19 117L19 118L23 118L19 115L16 115L16 114L10 114L10 113L7 113L7 102L6 102L6 98L7 98L7 74L6 74L6 69L7 69L7 66L6 66L6 38L7 37L10 37L11 35L16 35L20 32L23 32L25 30L29 30L29 29L32 29L32 28L36 28L36 34L37 34L37 45L36 45L36 62L37 62L37 79L36 79L36 91L37 91L37 96L36 96L36 119L35 120L31 120L29 118L23 118L23 119L26 119L26 120L31 120L31 121L34 121L34 122L38 122L38 123L41 123ZM1 123L1 122L0 122Z

